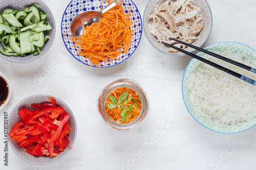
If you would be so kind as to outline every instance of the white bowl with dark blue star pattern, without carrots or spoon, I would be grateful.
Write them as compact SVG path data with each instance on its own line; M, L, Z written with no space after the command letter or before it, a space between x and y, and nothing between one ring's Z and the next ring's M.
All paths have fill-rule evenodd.
M61 21L61 34L62 39L70 52L72 56L80 61L83 64L90 66L90 59L85 60L83 56L77 55L78 53L78 47L74 47L74 43L71 41L69 37L71 37L71 31L70 31L70 25L72 23L72 20L81 12L84 11L100 11L101 7L101 0L72 0L68 7L66 8L62 21ZM106 1L103 2L103 9L108 6L108 3ZM130 50L127 53L120 54L117 58L120 60L112 60L111 63L109 63L110 60L106 62L101 62L102 64L100 67L111 67L114 65L117 65L123 61L125 61L127 58L129 58L136 50L136 48L139 45L141 35L142 35L142 21L141 16L139 13L139 10L135 6L135 4L131 0L123 0L122 1L122 7L124 9L124 12L127 14L130 11L131 7L131 16L130 18L133 20L132 30L134 31L134 35L132 38L132 45L130 46ZM109 63L109 64L107 64ZM104 65L103 65L104 64ZM107 65L105 65L107 64ZM97 67L96 65L92 65L92 67Z

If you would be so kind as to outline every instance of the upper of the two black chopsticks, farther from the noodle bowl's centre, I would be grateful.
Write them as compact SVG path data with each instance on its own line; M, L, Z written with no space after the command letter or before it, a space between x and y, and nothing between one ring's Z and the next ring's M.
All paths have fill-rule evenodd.
M169 39L172 39L172 40L177 41L177 42L179 42L179 43L181 43L181 44L184 44L184 45L186 45L186 46L189 46L189 47L191 47L191 48L195 48L196 50L198 50L198 51L200 51L200 52L209 54L209 55L214 56L214 57L216 57L216 58L218 58L218 59L221 59L221 60L223 60L223 61L229 62L229 63L231 63L231 64L237 65L237 66L239 66L239 67L241 67L241 68L244 68L244 69L246 69L246 70L249 70L249 71L251 71L251 72L256 73L256 69L255 69L255 68L252 68L252 67L249 67L249 66L247 66L247 65L241 64L241 63L239 63L239 62L237 62L237 61L230 60L230 59L228 59L228 58L226 58L226 57L223 57L223 56L220 56L220 55L218 55L218 54L209 52L209 51L207 51L207 50L204 50L203 48L197 47L197 46L195 46L195 45L188 44L188 43L183 42L183 41L180 41L180 40L178 40L178 39L174 39L174 38L169 38Z

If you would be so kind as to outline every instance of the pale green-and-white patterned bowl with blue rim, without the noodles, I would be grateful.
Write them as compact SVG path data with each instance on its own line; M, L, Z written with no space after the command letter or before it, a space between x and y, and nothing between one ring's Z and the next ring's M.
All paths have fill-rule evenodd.
M204 48L207 51L210 51L212 53L218 53L218 51L230 51L230 50L236 50L239 53L243 53L244 56L247 56L251 60L256 60L256 51L253 50L253 48L238 43L238 42L219 42L212 45L209 45ZM207 54L199 52L197 54L201 57L206 57ZM224 61L223 61L224 62ZM184 72L183 80L182 80L182 96L184 103L186 105L186 108L188 112L191 114L191 116L203 127L219 132L219 133L238 133L243 132L247 129L250 129L254 125L256 125L256 117L253 118L251 122L244 123L243 126L230 126L228 128L220 127L217 123L215 123L213 120L205 118L202 114L200 114L197 109L194 107L193 103L191 102L189 98L189 89L188 89L188 83L189 83L189 77L193 72L196 71L198 66L202 62L197 59L192 59L189 64L187 65L187 68ZM225 72L223 72L225 74ZM252 87L253 88L253 87Z

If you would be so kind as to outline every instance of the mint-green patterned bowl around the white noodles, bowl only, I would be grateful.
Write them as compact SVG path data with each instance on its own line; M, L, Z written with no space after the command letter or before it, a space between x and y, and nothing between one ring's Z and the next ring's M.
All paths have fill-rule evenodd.
M251 66L254 68L256 67L256 64L254 64L254 63L256 63L255 62L256 61L256 51L253 48L251 48L245 44L238 43L238 42L219 42L219 43L209 45L209 46L205 47L204 49L208 50L210 52L213 52L213 53L218 53L218 52L222 52L222 51L235 51L236 53L241 54L243 56L243 58L241 58L241 60L239 62L243 62L243 60L248 59L251 64L248 66ZM200 57L203 57L203 58L208 58L208 59L213 58L213 57L209 57L207 54L204 54L202 52L199 52L197 55ZM224 61L221 60L220 62L224 62ZM207 114L207 111L204 111L204 113L202 113L202 110L205 108L202 107L203 109L199 110L193 104L193 100L192 100L193 98L191 97L191 88L190 88L191 86L189 86L189 82L191 80L189 78L191 77L191 75L193 75L197 71L197 69L199 68L199 66L201 66L201 64L202 64L201 61L199 61L197 59L192 59L189 62L189 64L187 65L186 70L183 75L182 96L183 96L183 101L185 103L185 106L186 106L188 112L190 113L190 115L203 127L207 128L209 130L215 131L215 132L219 132L219 133L226 133L226 134L238 133L238 132L243 132L245 130L252 128L256 124L256 103L254 104L254 106L252 106L252 108L255 108L255 110L252 111L255 113L255 116L253 116L253 118L251 118L248 122L244 122L243 124L240 124L240 125L235 124L235 125L230 125L228 127L220 126L220 124L218 124L215 120L206 118L206 116L204 116L204 114ZM226 73L223 72L223 74L226 74ZM251 73L251 74L253 75L253 73ZM229 75L226 74L226 76L229 76ZM241 81L241 82L245 83L245 85L249 86L249 88L255 88L255 91L256 91L255 86L250 85L250 84L248 84L242 80L239 80L237 78L234 78L232 76L230 76L230 77L234 81ZM255 80L255 77L253 78L254 80ZM204 87L203 89L199 89L199 90L206 90L206 88L207 87ZM208 90L211 90L212 87L208 87L208 88L209 88ZM256 92L255 92L255 95L256 95ZM237 100L239 101L240 99L237 99Z

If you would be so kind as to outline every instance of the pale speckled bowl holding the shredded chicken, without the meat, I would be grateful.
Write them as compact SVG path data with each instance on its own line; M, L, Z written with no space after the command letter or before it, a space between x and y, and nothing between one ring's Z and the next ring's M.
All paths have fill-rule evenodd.
M150 33L150 30L148 30L147 25L148 23L150 23L150 20L148 19L148 17L153 13L155 6L158 3L163 1L166 1L166 0L150 0L145 8L144 15L143 15L143 29L144 29L146 38L158 51L164 54L171 55L171 56L184 56L185 54L181 52L170 53L169 47L158 42L157 38ZM202 22L205 23L204 28L198 34L199 38L192 43L193 45L200 47L204 44L204 42L208 39L210 35L211 28L212 28L212 14L211 14L210 7L205 0L192 0L192 2L194 5L200 8L201 16L204 18ZM190 47L187 47L185 49L190 53L195 51L193 48L190 48Z

